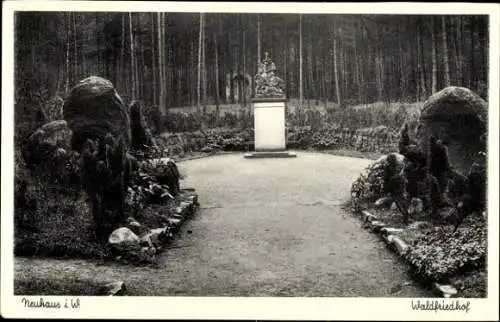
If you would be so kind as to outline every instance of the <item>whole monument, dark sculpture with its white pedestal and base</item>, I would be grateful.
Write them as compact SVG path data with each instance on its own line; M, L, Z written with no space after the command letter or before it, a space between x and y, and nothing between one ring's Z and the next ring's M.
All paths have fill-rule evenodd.
M295 157L286 151L285 82L276 75L276 65L266 52L255 76L255 152L245 158Z

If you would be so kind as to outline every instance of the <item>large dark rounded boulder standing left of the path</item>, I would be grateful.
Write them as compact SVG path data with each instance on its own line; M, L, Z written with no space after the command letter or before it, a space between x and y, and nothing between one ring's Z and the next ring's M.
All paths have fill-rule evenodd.
M72 148L80 151L87 139L103 139L107 133L130 143L127 108L113 84L91 76L73 87L63 107L64 119L73 131Z

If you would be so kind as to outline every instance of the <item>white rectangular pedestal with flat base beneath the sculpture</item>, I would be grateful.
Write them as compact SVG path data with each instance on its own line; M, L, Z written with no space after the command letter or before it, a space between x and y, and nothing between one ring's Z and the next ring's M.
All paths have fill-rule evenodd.
M286 152L285 99L253 101L255 152L246 158L295 157Z

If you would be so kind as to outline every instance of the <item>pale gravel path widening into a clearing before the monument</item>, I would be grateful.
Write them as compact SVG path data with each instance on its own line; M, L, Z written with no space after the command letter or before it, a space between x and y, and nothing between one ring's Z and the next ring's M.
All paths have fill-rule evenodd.
M17 259L16 271L26 273L31 262L43 276L36 261L51 262L51 274L121 279L144 296L430 296L341 208L369 162L306 152L181 162L182 185L196 189L201 209L157 268Z

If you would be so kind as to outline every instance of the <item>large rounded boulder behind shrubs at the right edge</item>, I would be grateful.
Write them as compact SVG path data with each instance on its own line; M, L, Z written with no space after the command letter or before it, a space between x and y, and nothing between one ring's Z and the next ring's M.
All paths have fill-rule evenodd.
M416 138L428 148L430 136L448 148L451 164L466 173L478 152L486 149L488 103L464 87L447 87L427 99Z

